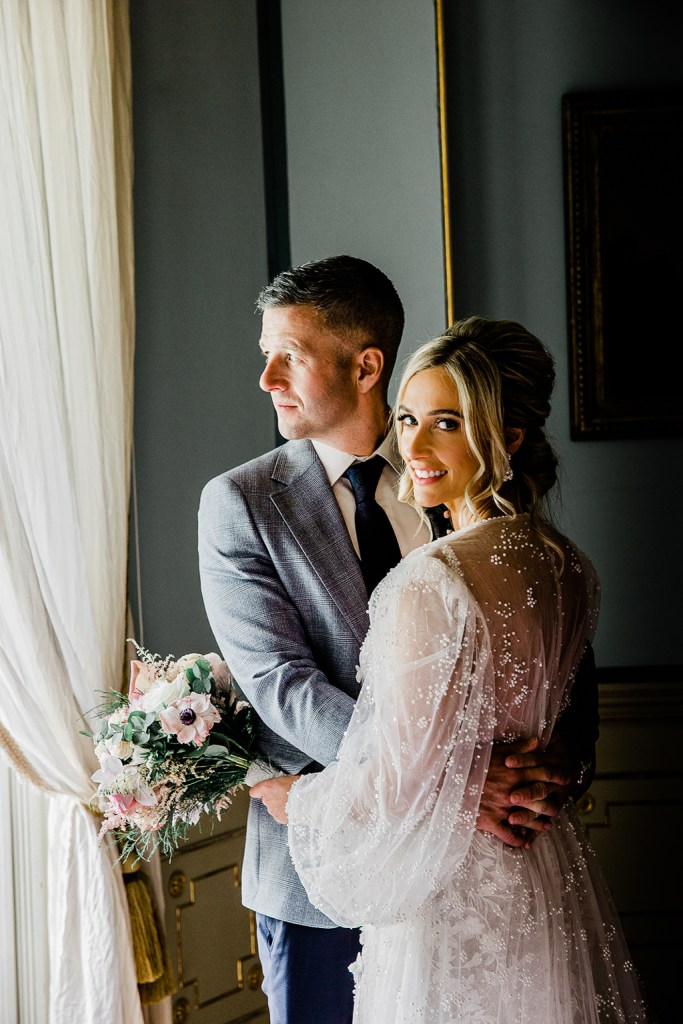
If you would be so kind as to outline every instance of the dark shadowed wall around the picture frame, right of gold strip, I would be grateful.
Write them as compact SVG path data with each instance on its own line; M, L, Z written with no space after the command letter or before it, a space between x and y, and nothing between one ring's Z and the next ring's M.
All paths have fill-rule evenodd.
M456 315L509 317L555 353L561 521L603 585L601 668L683 665L683 438L569 439L565 92L683 85L683 11L648 0L445 0ZM624 358L666 367L650 337ZM672 528L669 528L671 523ZM679 674L680 675L680 674Z

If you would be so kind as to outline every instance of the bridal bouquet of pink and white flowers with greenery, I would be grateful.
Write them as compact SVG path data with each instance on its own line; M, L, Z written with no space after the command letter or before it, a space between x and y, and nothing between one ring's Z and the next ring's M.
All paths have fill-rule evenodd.
M100 765L91 806L103 816L98 842L113 833L122 859L160 847L171 859L201 815L220 818L244 784L256 759L252 710L216 654L174 660L135 647L128 693L106 694L87 733Z

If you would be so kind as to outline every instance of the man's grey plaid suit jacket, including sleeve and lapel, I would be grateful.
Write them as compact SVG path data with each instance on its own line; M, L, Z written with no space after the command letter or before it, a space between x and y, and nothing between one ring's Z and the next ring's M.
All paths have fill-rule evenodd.
M319 770L353 710L369 618L359 562L310 441L207 483L199 554L209 623L259 716L260 750L288 774ZM287 827L261 801L249 810L242 897L280 921L333 926L308 901Z

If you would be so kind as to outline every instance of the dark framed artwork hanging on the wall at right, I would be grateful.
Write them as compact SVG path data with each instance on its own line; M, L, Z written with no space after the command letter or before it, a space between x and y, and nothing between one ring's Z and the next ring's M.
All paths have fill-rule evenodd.
M570 432L683 434L683 92L562 97Z

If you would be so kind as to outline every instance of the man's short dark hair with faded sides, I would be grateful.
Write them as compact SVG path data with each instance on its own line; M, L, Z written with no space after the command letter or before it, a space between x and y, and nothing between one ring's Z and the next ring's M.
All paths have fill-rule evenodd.
M355 256L328 256L283 270L256 300L261 312L276 306L310 306L326 327L355 335L362 348L381 349L388 385L405 316L396 289L372 263Z

